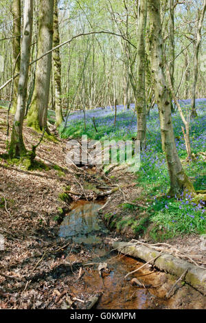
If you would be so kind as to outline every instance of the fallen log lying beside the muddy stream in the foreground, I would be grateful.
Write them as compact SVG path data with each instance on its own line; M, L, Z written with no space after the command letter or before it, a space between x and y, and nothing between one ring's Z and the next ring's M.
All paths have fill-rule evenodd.
M144 245L137 246L135 244L119 241L114 241L112 245L113 248L117 249L118 252L121 252L122 254L128 254L129 256L133 256L135 258L140 258L142 260L145 260L146 262L152 260L152 258L159 256L159 258L155 260L155 267L178 277L180 277L187 269L185 282L187 282L189 285L206 296L206 270L204 268L201 269L196 265L176 258L171 254L160 254L160 252L157 252L155 249L146 247Z

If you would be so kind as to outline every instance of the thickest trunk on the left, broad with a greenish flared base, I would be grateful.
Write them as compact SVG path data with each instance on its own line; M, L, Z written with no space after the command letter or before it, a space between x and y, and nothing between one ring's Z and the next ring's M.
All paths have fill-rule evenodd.
M53 16L54 0L40 0L37 57L52 49ZM36 130L47 129L51 68L52 52L38 60L36 64L34 96L27 115L27 125Z

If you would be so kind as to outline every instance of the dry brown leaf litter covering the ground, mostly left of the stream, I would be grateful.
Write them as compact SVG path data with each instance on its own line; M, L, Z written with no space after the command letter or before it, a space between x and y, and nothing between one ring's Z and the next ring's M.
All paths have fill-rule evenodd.
M82 264L94 256L88 247L73 245L60 238L59 224L70 210L68 192L91 194L89 183L98 181L104 185L105 175L100 172L95 174L95 170L82 175L80 170L68 168L65 161L67 141L62 139L54 142L48 138L41 142L36 151L36 169L27 170L21 164L16 164L16 161L6 159L3 155L7 152L6 115L7 111L0 109L0 234L1 241L4 239L4 248L0 251L0 308L87 308L94 290L85 288L80 278L82 270L86 271L82 269ZM37 144L41 137L41 134L27 126L24 126L23 133L27 149ZM128 216L136 213L143 221L137 224L144 225L148 221L148 201L141 194L143 188L137 185L135 174L126 175L122 168L111 170L109 176L110 183L124 188L114 192L102 210L105 223L114 221L113 231L107 238L117 237L126 241L139 238L139 230L136 234L130 227L118 230L113 216L121 210L121 213L124 212L122 221L128 221ZM73 199L77 197L73 195ZM130 208L130 204L125 201L134 199L138 205ZM144 236L141 241L146 239ZM199 234L175 237L169 243L187 253L190 256L190 259L186 257L187 260L200 261L199 265L203 266L205 253L199 249ZM95 295L100 293L102 289L98 285ZM188 294L180 308L187 308L194 298L192 293ZM198 307L203 308L203 302L202 298ZM195 308L195 304L192 306Z

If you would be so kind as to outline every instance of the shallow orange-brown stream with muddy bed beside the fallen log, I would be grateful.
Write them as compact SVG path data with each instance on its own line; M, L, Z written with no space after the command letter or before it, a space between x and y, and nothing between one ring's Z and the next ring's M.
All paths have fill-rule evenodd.
M103 201L103 203L105 203ZM70 286L78 296L101 294L97 309L170 309L176 308L176 296L165 300L176 278L152 269L150 265L124 276L143 265L138 260L117 254L104 243L109 233L98 216L102 202L78 201L60 225L59 235L73 244L89 249L91 258L82 267L82 276ZM68 257L78 261L78 255ZM100 270L100 266L104 267ZM137 278L142 285L135 284ZM133 283L135 285L133 285ZM176 304L176 305L175 305ZM190 305L188 304L188 308Z

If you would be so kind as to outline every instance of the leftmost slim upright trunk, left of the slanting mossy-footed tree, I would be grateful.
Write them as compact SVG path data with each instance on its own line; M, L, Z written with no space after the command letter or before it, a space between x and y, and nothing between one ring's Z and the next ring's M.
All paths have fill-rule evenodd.
M13 27L12 27L12 65L15 66L14 74L18 74L20 71L20 52L21 52L21 0L12 1L12 17L13 17ZM19 78L14 79L14 89L13 89L13 104L11 113L16 112L17 95L18 95L18 84Z

